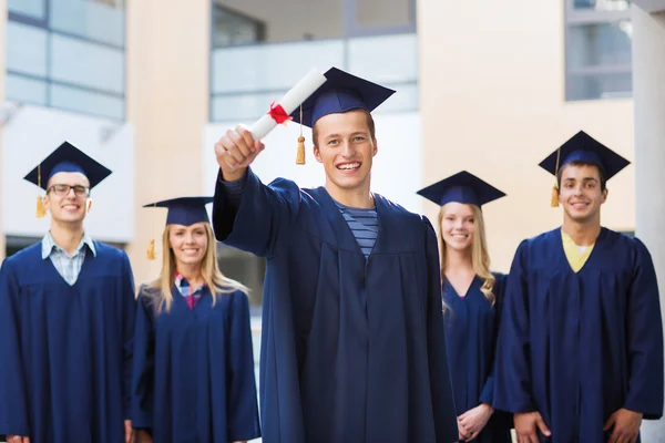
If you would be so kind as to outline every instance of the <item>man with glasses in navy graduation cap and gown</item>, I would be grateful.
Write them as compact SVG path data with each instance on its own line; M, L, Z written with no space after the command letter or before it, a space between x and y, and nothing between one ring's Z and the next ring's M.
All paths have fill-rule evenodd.
M25 179L51 214L44 238L0 269L0 434L9 443L132 439L134 284L125 253L83 229L111 171L63 143Z

